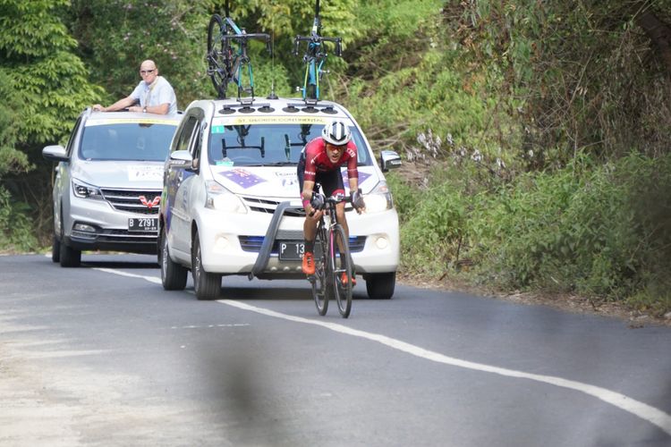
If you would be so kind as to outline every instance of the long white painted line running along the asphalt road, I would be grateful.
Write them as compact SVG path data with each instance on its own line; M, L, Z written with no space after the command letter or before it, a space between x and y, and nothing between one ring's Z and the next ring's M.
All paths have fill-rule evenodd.
M160 278L155 278L151 276L142 276L140 274L129 274L111 268L97 268L96 270L110 274L120 274L122 276L140 278L149 281L150 283L161 283ZM652 407L647 403L636 401L635 399L627 397L624 394L614 392L606 388L602 388L600 386L583 384L582 382L577 382L562 377L556 377L554 375L539 375L539 374L525 373L523 371L517 371L514 369L507 369L504 367L494 367L483 363L475 363L468 360L462 360L461 358L448 357L438 352L434 352L432 350L425 350L424 348L420 348L419 346L415 346L411 343L402 342L400 340L396 340L394 338L387 337L386 335L382 335L379 333L369 333L366 331L361 331L359 329L352 329L351 327L347 327L345 325L338 325L336 323L329 323L326 321L304 318L302 316L286 315L267 308L258 308L256 306L251 306L249 304L245 304L240 301L235 301L233 299L218 299L217 302L234 308L240 308L242 310L256 312L264 316L281 318L287 321L292 321L294 323L321 326L336 333L344 333L346 335L352 335L353 337L359 337L362 339L369 340L371 342L378 342L394 350L400 350L412 356L418 358L424 358L445 365L451 365L454 367L463 367L485 373L505 375L507 377L528 379L533 380L535 382L540 382L542 384L551 384L561 388L567 388L569 390L583 392L590 396L596 397L600 401L607 402L617 407L618 409L624 409L624 411L627 411L636 417L641 417L641 419L650 422L650 424L658 426L659 428L664 430L667 434L671 435L671 415L667 414L661 409Z

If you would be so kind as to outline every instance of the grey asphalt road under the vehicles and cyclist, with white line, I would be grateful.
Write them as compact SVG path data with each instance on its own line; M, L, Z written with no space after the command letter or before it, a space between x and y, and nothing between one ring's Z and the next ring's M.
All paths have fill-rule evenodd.
M671 328L454 292L0 257L0 445L671 445Z

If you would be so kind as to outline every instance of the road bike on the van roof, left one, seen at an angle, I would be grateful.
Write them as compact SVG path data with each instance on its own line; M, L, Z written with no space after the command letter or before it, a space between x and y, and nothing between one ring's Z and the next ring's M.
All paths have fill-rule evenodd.
M225 99L229 83L238 87L238 98L243 93L254 97L254 72L247 42L251 39L264 40L268 52L270 36L266 33L247 33L238 27L230 17L228 1L225 3L225 17L213 14L208 25L208 76L217 90L217 97ZM243 78L247 78L246 81Z

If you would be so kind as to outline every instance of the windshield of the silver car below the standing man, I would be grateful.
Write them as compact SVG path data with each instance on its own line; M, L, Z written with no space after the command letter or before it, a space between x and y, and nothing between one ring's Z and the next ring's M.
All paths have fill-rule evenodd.
M87 126L81 137L85 160L164 161L176 126L120 123Z

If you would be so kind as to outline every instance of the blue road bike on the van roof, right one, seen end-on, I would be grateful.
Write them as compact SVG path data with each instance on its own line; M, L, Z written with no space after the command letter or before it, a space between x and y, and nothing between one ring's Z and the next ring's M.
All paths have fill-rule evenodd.
M321 19L319 18L319 0L315 0L315 18L312 22L310 36L296 36L293 40L293 55L298 55L301 42L307 42L308 47L303 55L305 63L305 78L303 80L302 96L319 101L319 80L324 73L324 63L327 61L327 52L324 42L335 43L335 55L340 57L343 53L342 38L325 38L319 35L321 32Z

